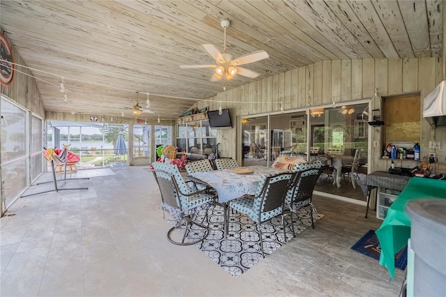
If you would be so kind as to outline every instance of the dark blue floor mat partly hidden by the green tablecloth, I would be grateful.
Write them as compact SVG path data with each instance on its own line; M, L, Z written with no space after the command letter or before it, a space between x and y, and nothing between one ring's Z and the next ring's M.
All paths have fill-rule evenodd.
M381 246L374 230L367 231L352 247L352 250L365 254L379 261L381 254ZM407 245L395 254L395 267L403 271L407 265Z

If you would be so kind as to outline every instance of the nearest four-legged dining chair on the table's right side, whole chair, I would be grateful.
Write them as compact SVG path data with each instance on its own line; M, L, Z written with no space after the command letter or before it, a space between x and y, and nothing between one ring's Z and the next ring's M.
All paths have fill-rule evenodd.
M270 176L262 176L256 195L244 195L229 202L229 207L240 213L245 213L256 224L259 225L260 248L262 257L265 257L262 238L262 224L279 215L282 215L284 228L284 239L286 241L286 230L284 220L284 202L289 184L293 181L295 173L283 172Z

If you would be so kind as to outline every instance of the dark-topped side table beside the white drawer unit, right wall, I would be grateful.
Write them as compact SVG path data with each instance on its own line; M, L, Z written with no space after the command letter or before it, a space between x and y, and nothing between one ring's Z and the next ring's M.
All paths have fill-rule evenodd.
M364 180L360 181L362 192L367 197L367 209L365 211L365 218L367 218L367 213L369 213L370 204L370 192L374 188L387 188L397 191L402 191L406 187L410 176L400 176L397 174L388 174L387 172L372 172L368 174ZM376 202L375 201L375 208Z

